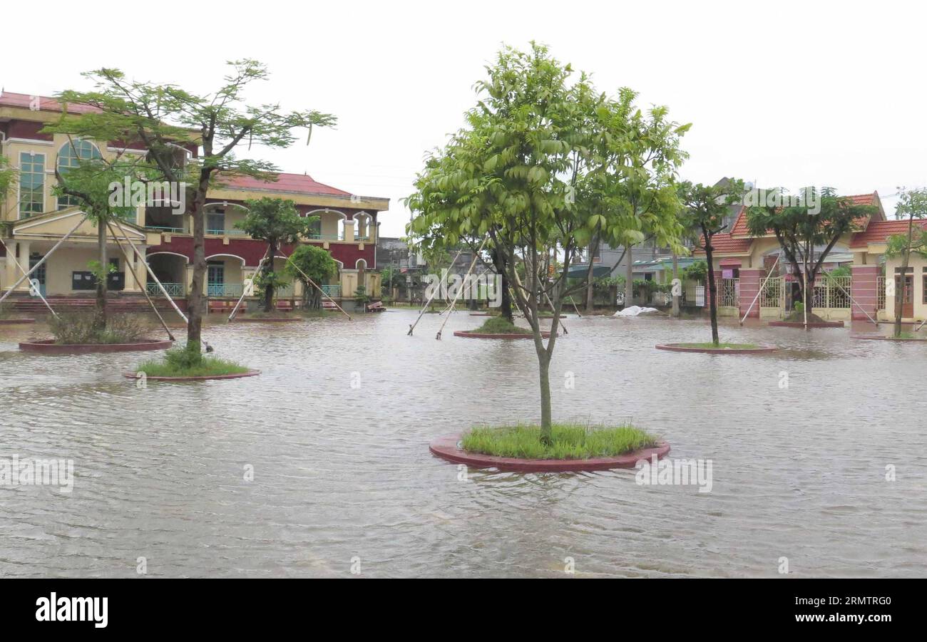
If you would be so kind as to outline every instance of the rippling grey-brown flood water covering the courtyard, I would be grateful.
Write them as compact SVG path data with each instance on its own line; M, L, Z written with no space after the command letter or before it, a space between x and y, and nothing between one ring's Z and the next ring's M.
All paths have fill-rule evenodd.
M736 577L783 557L795 576L927 574L927 345L732 323L722 340L788 349L679 354L654 344L708 340L705 321L567 319L554 418L711 459L699 493L433 457L435 436L536 421L537 359L452 336L485 321L466 312L439 342L443 317L410 337L414 317L210 325L262 374L145 389L121 371L150 353L30 356L16 342L43 326L0 327L0 458L75 474L70 493L0 485L0 575L129 577L145 558L152 576L553 577L572 558L577 576Z

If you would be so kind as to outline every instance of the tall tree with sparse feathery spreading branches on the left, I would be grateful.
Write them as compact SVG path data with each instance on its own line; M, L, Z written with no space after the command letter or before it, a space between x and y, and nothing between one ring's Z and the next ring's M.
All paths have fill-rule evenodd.
M294 131L334 125L330 114L286 111L279 104L248 105L245 93L268 78L257 60L229 62L231 70L208 94L156 82L133 81L119 69L96 69L83 76L94 82L89 92L66 91L62 103L81 103L98 113L73 118L71 133L84 138L120 141L146 147L161 180L188 188L187 214L193 222L193 284L188 299L187 343L199 345L205 311L206 216L210 187L233 176L272 181L273 163L235 156L242 145L283 148L293 145ZM197 155L187 154L198 150Z

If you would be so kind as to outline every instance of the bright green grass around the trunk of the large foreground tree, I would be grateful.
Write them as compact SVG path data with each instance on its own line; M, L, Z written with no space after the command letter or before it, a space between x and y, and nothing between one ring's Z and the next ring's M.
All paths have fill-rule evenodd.
M551 430L550 446L540 443L540 426L521 424L502 428L476 427L464 434L461 442L467 452L519 459L616 457L659 444L653 434L629 425L554 423Z

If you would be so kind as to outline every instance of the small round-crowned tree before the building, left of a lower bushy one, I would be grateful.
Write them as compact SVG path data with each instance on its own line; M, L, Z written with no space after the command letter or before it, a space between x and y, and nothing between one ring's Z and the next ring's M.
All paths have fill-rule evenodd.
M281 245L293 245L309 234L312 220L317 217L301 217L293 204L286 198L269 198L245 201L248 214L235 227L248 233L251 238L267 243L267 256L261 263L260 283L264 289L264 311L273 310L274 291L286 285L286 280L273 271L273 258Z

